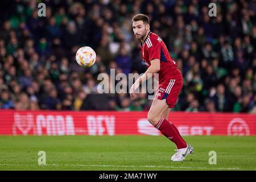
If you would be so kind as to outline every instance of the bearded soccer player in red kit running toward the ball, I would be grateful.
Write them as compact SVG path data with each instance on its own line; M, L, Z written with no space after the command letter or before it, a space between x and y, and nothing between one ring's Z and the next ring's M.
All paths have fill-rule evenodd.
M148 121L177 146L172 161L183 161L188 154L193 153L193 147L181 137L174 123L168 121L172 107L183 85L183 77L177 63L170 56L163 40L150 31L148 16L137 14L133 17L133 31L137 39L141 40L141 56L147 65L147 71L139 77L130 88L130 96L135 99L135 90L146 81L150 75L158 73L159 86L148 111Z

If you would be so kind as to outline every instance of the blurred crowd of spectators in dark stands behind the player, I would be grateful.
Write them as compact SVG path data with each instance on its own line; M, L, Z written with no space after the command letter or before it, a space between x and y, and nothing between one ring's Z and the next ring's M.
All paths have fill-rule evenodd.
M38 16L40 2L46 17ZM211 2L216 17L208 15ZM255 0L16 0L0 9L1 109L148 110L147 94L133 101L97 89L98 74L110 69L146 71L131 27L143 13L183 73L173 110L256 113ZM90 68L75 61L82 46L97 53Z

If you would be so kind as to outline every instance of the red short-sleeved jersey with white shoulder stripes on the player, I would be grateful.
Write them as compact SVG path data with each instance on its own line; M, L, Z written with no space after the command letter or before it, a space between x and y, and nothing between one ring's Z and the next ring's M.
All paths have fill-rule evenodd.
M180 77L179 69L177 68L177 63L172 59L166 44L163 40L153 32L149 32L147 38L142 44L141 56L147 68L150 67L150 61L153 59L160 60L160 70L159 74L159 84L162 84L164 80L170 77Z

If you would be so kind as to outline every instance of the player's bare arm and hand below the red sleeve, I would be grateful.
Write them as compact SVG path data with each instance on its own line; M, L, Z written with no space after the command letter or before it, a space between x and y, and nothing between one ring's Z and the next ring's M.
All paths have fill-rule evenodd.
M143 81L146 81L148 78L154 77L154 74L158 73L158 71L160 70L159 59L152 59L150 63L151 65L150 67L148 67L147 71L134 82L133 86L131 86L131 98L135 98L135 90L139 88L139 85L141 85Z

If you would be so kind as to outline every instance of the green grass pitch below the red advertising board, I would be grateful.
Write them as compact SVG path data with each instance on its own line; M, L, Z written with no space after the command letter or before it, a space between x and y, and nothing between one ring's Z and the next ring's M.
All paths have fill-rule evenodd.
M0 170L256 170L256 137L184 139L195 153L171 162L176 147L163 136L1 136ZM217 164L209 164L210 151Z

